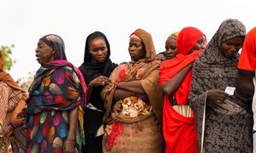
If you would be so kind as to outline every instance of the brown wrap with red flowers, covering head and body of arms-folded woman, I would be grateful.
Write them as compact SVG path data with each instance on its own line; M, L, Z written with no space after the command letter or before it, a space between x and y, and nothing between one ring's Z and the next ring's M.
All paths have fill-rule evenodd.
M162 94L157 84L160 63L154 59L154 43L147 31L139 29L133 34L143 40L146 50L144 59L120 64L109 77L110 83L102 90L102 99L106 113L104 122L111 123L110 134L103 138L104 152L162 152L163 139L160 122L162 112ZM113 94L119 82L140 81L152 106L152 112L146 116L124 117L115 110Z

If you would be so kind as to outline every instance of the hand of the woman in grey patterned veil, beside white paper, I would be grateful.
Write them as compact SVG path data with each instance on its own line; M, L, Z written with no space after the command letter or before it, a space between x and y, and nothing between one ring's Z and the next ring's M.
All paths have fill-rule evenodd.
M224 93L223 90L212 89L207 93L207 101L211 101L213 103L223 103L227 96L229 96L229 94Z

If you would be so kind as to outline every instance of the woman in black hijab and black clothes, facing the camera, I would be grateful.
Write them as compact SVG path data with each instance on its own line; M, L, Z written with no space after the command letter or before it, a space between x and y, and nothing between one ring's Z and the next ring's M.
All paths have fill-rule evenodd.
M86 153L102 152L102 117L105 110L100 94L108 82L109 75L117 66L112 63L109 56L110 46L107 37L100 31L91 33L85 42L84 63L79 67L88 87L88 105L84 111L86 142L82 148Z

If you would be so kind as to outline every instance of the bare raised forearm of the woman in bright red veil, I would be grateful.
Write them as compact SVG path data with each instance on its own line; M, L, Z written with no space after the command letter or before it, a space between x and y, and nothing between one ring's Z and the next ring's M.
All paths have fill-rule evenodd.
M183 82L184 77L188 73L189 69L192 67L193 64L187 65L186 67L183 68L183 70L179 71L177 75L172 77L171 80L168 82L164 83L161 87L166 95L173 94L177 88L181 85Z

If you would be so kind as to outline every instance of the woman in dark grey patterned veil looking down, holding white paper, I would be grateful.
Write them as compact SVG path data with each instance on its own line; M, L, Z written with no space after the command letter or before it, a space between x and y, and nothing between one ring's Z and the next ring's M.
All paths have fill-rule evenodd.
M246 35L239 20L224 20L195 61L189 105L196 111L201 152L253 152L251 103L236 88L238 51Z

